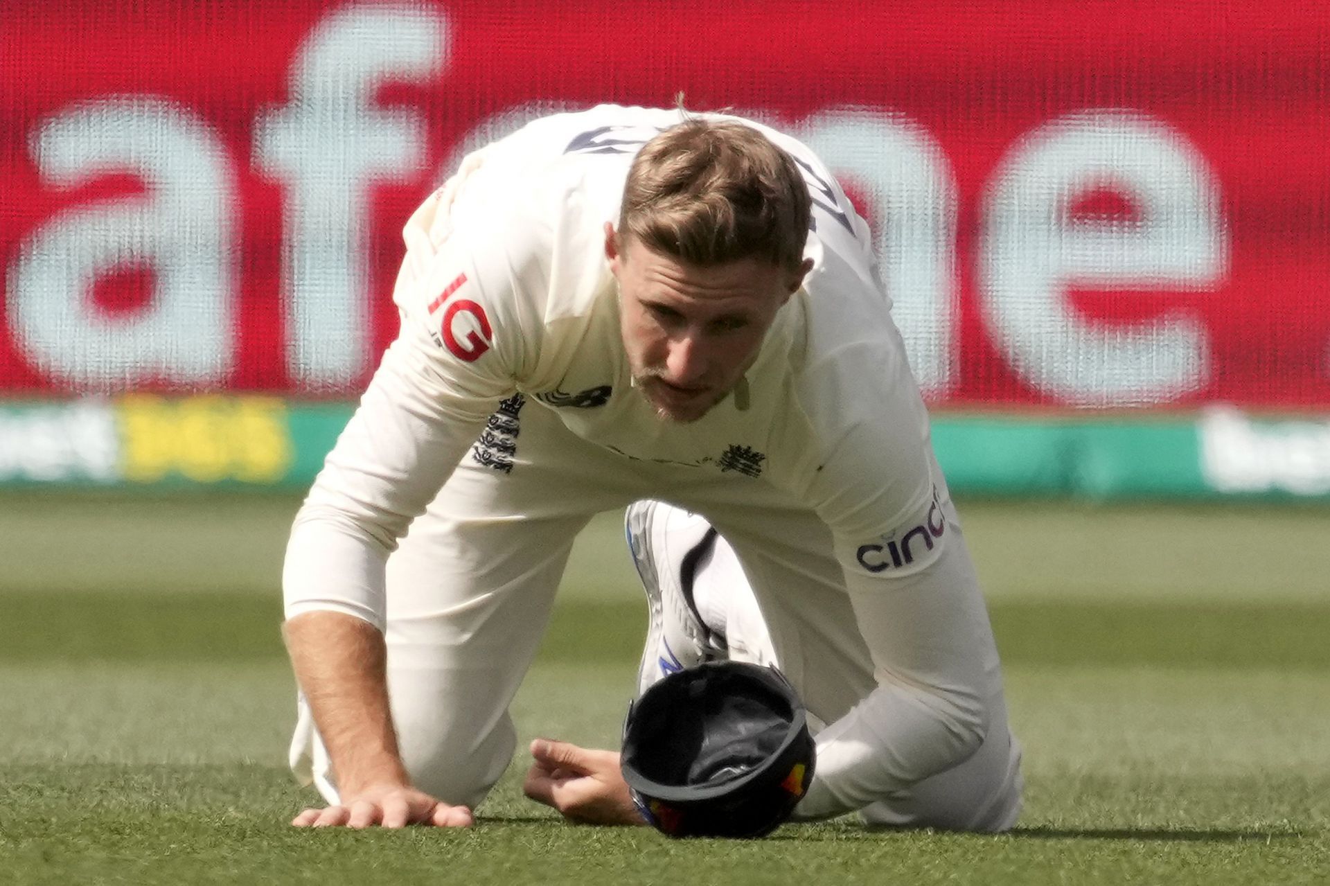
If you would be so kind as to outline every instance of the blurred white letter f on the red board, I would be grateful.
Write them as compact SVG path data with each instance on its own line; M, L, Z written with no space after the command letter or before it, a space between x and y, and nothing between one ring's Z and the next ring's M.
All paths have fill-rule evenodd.
M255 162L286 185L282 301L302 386L344 386L367 363L370 189L414 181L427 160L419 114L375 108L375 92L438 76L447 33L416 5L336 12L301 47L290 104L255 122Z

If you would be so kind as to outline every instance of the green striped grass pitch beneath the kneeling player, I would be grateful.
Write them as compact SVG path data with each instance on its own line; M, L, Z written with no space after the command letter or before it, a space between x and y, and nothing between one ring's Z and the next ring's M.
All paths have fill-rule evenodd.
M278 641L290 499L0 499L0 883L1327 883L1330 511L962 503L1025 745L1020 827L757 842L564 825L305 831ZM517 698L616 741L645 608L612 516ZM589 629L595 625L595 629Z

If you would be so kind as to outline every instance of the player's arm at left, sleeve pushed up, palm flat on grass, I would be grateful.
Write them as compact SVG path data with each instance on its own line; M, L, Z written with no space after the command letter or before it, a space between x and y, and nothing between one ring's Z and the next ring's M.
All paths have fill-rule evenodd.
M477 285L467 289L481 298ZM386 685L387 557L513 384L507 355L456 359L431 335L436 323L438 311L404 311L291 529L283 633L338 801L297 825L458 823L462 813L469 821L411 789Z

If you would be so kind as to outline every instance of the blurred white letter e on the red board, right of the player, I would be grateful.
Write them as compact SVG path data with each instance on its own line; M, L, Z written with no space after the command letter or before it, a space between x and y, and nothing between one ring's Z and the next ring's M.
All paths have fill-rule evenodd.
M1140 208L1132 223L1071 223L1068 204L1112 188ZM1178 133L1138 114L1049 122L1000 166L984 204L980 303L1011 366L1077 406L1136 406L1205 384L1209 342L1196 318L1130 326L1085 322L1065 287L1206 290L1228 266L1218 184Z

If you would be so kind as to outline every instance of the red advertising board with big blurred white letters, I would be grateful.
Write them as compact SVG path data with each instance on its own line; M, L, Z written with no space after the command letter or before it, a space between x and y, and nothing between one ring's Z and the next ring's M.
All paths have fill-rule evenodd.
M1330 404L1330 8L0 4L0 392L344 396L460 152L613 101L807 140L939 406Z

